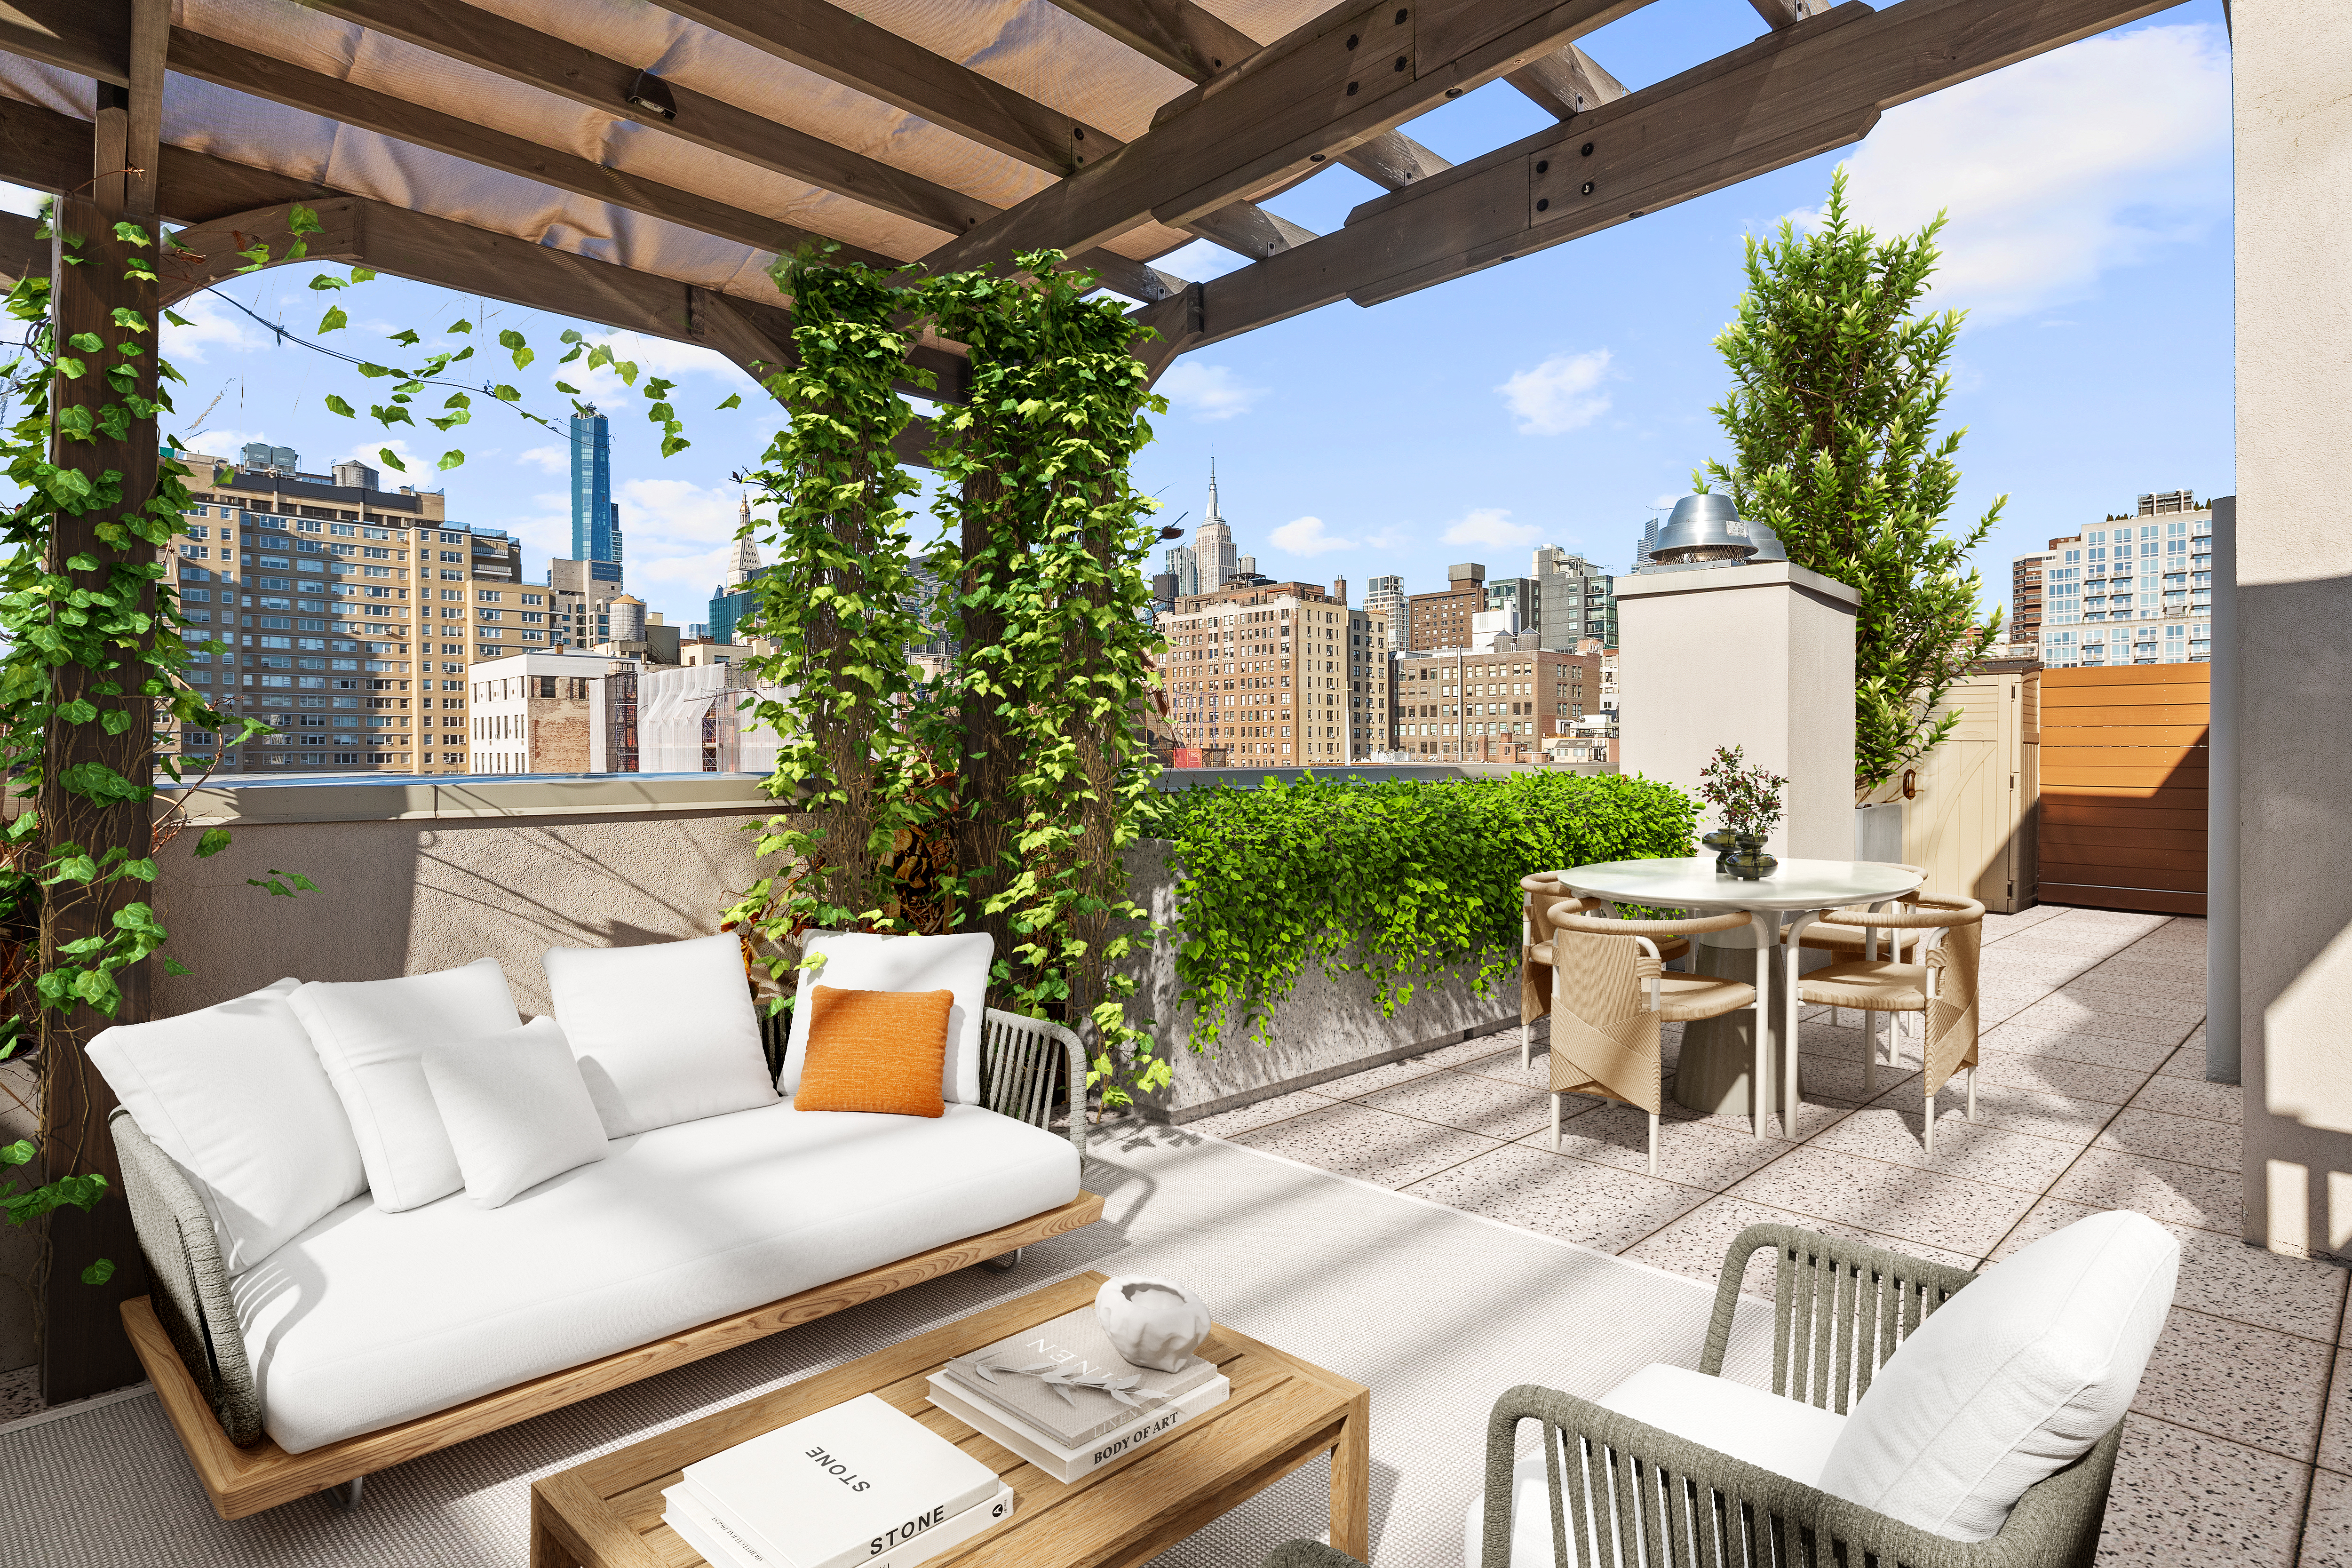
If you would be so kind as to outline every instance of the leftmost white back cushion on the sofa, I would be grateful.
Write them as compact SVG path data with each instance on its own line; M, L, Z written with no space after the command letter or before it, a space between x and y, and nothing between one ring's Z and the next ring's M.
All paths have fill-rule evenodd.
M367 1192L343 1103L280 980L179 1018L118 1023L89 1060L205 1208L221 1262L242 1274Z

